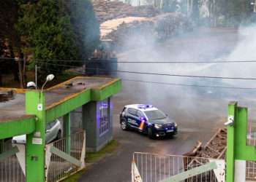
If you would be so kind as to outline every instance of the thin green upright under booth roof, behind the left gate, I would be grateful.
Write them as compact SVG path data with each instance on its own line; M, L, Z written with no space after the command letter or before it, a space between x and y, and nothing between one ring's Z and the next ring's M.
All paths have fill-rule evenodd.
M70 113L63 116L64 121L64 137L66 138L65 151L70 154Z

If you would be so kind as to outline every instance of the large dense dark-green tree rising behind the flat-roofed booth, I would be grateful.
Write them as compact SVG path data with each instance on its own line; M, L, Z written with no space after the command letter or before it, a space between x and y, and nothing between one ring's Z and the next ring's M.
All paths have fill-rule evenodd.
M88 58L99 42L99 25L89 0L38 0L20 5L18 30L24 50L39 62L39 79L59 74L67 62ZM29 49L27 48L29 47ZM59 65L56 65L59 64Z

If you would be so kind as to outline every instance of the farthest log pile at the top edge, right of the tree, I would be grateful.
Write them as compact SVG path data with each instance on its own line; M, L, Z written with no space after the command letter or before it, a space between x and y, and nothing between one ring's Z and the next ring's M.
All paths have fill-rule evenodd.
M121 1L94 0L93 6L99 24L120 17L154 17L159 14L153 6L132 7Z

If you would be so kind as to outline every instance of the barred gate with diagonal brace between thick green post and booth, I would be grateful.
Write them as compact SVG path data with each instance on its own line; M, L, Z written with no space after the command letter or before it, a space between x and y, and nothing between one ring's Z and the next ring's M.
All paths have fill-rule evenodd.
M84 158L85 158L85 132L76 132L72 134L70 137L70 143L68 143L67 138L61 138L59 141L55 141L46 146L46 165L48 166L46 169L46 178L47 181L59 181L67 175L75 173L80 170L84 166ZM70 153L67 151L67 145L70 145ZM78 167L73 165L70 162L67 162L65 159L57 156L56 154L50 153L49 149L51 146L56 147L60 151L69 154L71 157L78 159L82 162L82 166Z

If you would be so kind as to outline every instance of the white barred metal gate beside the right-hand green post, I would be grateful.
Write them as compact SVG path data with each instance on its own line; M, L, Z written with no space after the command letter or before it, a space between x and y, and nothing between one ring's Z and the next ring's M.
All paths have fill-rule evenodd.
M195 167L206 165L212 161L220 161L222 163L222 169L217 165L217 170L208 170L199 175L193 175L184 182L218 182L218 180L225 177L225 162L224 160L206 159L198 157L184 157L175 155L159 155L135 152L133 154L133 160L138 167L138 172L143 182L146 181L164 181L174 175L178 175L188 170L192 170ZM219 172L222 173L220 176Z

